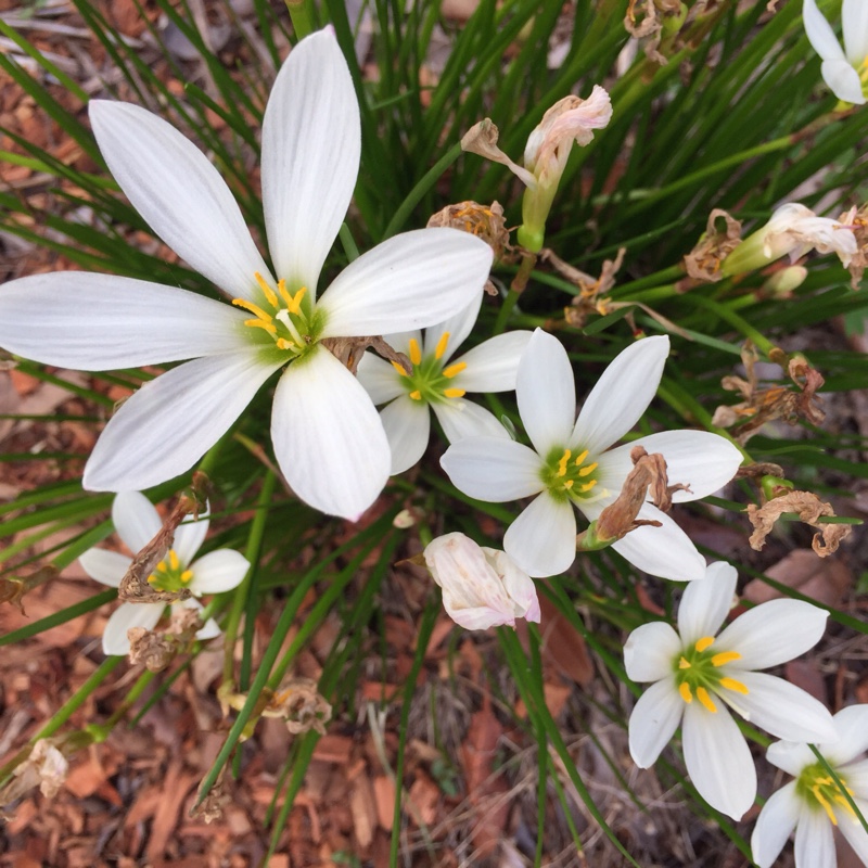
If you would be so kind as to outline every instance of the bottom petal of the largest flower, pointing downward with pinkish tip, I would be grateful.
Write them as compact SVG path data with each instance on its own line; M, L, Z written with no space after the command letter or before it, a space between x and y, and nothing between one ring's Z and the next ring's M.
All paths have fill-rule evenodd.
M380 416L361 383L322 347L280 378L271 439L295 494L327 515L358 520L388 480Z

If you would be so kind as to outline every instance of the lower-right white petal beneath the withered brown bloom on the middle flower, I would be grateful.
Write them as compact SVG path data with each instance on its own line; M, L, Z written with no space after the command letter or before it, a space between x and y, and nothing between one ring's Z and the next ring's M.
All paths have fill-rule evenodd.
M688 535L651 503L639 510L639 518L661 522L661 527L637 527L612 544L612 548L634 566L652 576L675 582L692 582L705 575L705 559Z

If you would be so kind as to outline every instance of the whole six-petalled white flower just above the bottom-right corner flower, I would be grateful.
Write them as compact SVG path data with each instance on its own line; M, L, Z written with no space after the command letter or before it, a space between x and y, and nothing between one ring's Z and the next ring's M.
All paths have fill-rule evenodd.
M778 738L834 738L831 715L821 703L782 678L755 672L815 646L828 612L800 600L771 600L737 617L715 638L737 578L729 564L711 564L705 578L685 590L677 633L661 621L643 624L624 647L627 675L654 681L630 715L635 763L652 765L681 724L690 779L710 805L733 819L753 804L756 769L727 706Z

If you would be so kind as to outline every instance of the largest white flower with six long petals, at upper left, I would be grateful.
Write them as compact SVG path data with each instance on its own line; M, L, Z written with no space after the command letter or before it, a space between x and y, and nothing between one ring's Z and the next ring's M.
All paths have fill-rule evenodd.
M192 359L146 383L108 422L87 467L92 490L135 490L189 470L285 366L271 438L295 493L356 519L388 477L367 392L323 346L430 326L465 307L492 261L454 229L390 239L317 297L359 167L353 81L331 30L291 52L263 125L263 205L275 275L229 188L178 130L136 105L92 101L117 182L153 230L233 305L129 278L38 275L0 290L0 346L47 365L111 370Z

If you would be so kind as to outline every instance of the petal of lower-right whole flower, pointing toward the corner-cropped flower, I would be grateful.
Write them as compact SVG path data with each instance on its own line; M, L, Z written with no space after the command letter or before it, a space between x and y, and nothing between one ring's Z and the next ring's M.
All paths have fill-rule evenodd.
M720 694L755 726L787 741L816 743L834 738L832 715L795 685L764 672L740 672L730 666L722 672L748 688L746 694L731 690L722 690Z

